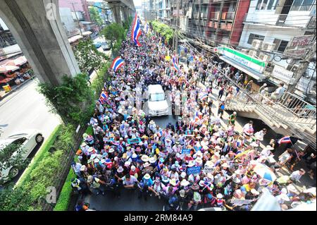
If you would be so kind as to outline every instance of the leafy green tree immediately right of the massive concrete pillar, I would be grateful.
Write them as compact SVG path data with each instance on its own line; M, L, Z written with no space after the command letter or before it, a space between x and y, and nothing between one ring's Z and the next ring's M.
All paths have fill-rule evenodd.
M96 49L91 39L80 41L74 53L82 73L87 73L91 68L98 70L101 68L104 60L108 59L106 54Z

